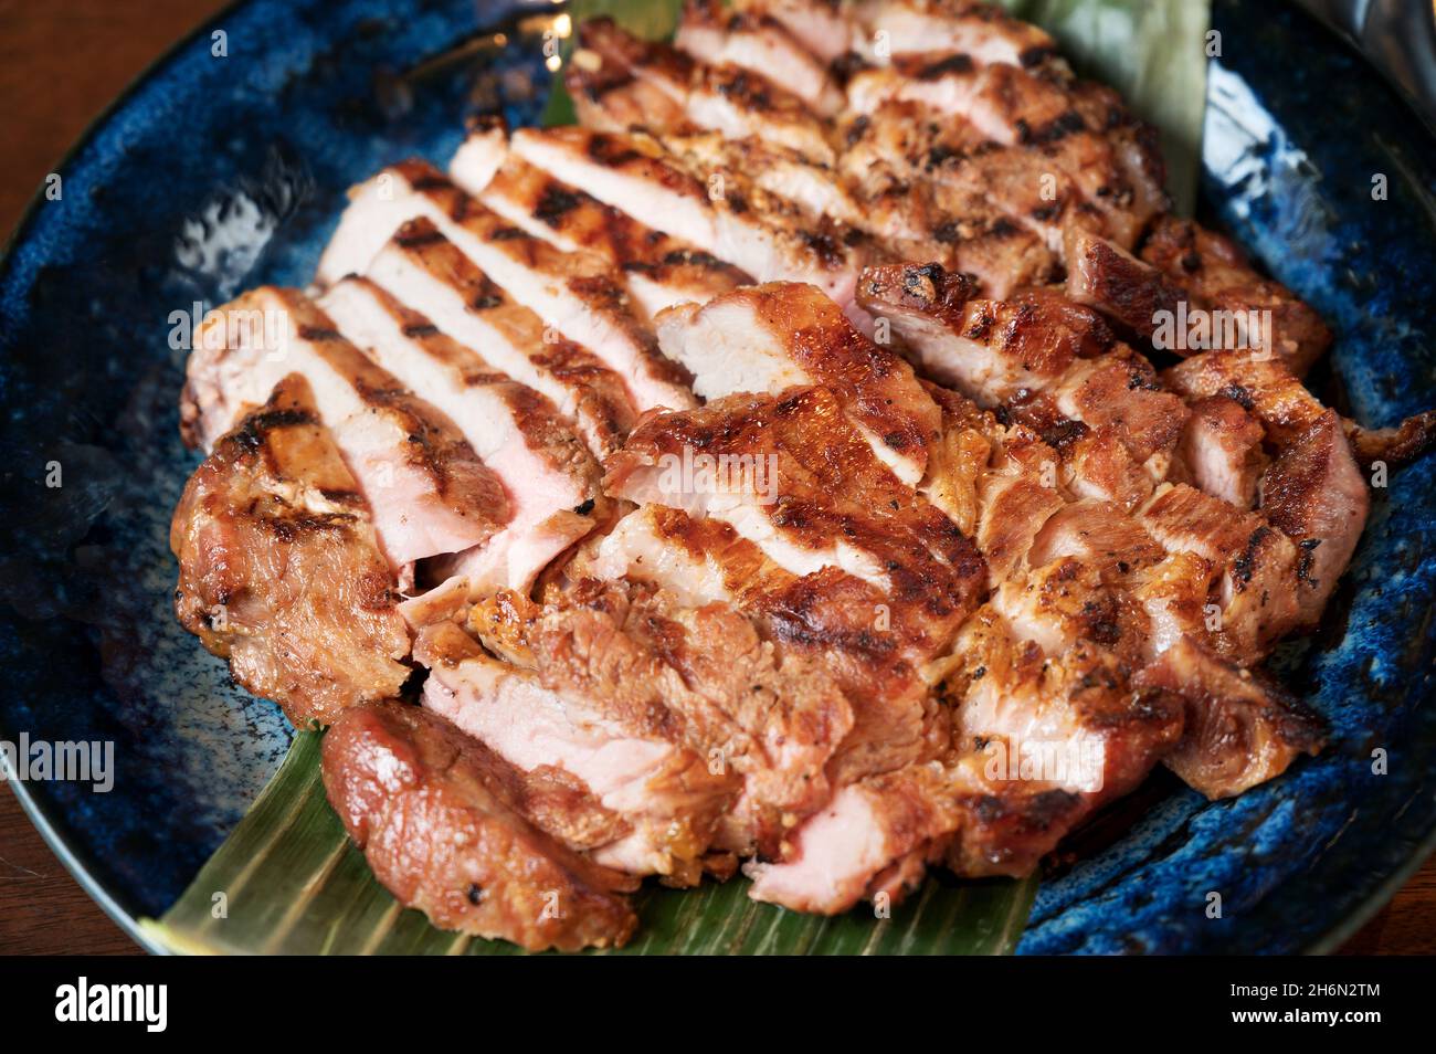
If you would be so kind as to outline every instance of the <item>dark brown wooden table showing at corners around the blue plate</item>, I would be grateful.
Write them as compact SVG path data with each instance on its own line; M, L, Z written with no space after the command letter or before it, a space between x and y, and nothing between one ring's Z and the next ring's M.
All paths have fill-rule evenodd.
M0 121L9 233L60 155L106 103L218 0L0 0ZM0 790L0 953L138 953ZM1436 860L1347 945L1436 953Z

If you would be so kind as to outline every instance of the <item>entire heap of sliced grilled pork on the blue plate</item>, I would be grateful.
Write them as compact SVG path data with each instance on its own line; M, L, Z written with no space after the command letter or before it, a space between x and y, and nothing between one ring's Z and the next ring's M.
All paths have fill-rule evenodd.
M1166 215L1116 93L974 0L695 1L675 46L599 19L566 83L582 128L356 190L283 369L191 360L195 442L280 388L177 514L181 617L296 721L350 708L329 791L404 902L616 943L619 872L750 857L757 899L841 912L1027 875L1159 764L1223 797L1320 750L1262 663L1436 415L1321 405L1325 327ZM1190 312L1272 325L1167 345ZM432 441L398 505L363 454L401 425ZM352 709L398 691L404 617L425 709ZM536 923L538 883L592 918Z

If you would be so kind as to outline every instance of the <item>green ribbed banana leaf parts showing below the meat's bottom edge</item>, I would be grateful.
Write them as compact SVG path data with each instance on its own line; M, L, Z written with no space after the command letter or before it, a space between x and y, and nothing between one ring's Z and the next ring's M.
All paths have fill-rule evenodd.
M345 837L319 777L319 732L294 737L289 757L158 922L141 926L178 953L518 955L501 941L435 929L373 879ZM607 955L932 955L1012 951L1035 880L931 880L893 912L826 919L754 903L748 883L692 890L649 883L635 897L639 931ZM221 910L223 908L223 910Z

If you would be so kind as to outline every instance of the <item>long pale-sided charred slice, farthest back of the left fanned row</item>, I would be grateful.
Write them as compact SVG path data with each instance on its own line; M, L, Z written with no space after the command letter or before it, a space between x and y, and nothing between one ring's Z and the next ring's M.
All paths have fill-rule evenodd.
M651 139L551 128L514 132L511 148L533 165L638 215L662 215L663 228L741 267L758 281L811 281L840 307L853 300L860 260L797 220L757 218L727 188L712 194Z

